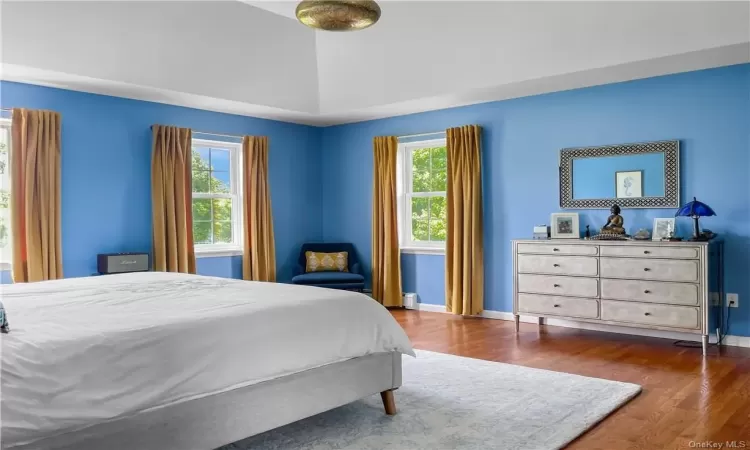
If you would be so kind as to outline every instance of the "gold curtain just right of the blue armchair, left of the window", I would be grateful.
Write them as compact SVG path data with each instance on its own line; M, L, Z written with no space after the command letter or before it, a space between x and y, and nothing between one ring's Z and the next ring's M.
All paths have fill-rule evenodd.
M398 245L396 155L398 139L373 141L372 296L384 306L403 306Z

